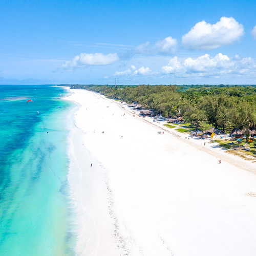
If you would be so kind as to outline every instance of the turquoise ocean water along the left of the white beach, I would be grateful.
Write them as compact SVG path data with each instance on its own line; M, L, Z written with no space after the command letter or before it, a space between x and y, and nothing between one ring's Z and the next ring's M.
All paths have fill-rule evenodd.
M67 94L0 86L0 255L74 255L65 125L73 103L60 99Z

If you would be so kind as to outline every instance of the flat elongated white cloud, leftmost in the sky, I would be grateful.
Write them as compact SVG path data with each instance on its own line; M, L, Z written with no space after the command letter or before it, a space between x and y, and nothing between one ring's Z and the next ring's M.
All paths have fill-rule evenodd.
M86 66L109 65L118 60L116 53L81 53L72 60L66 61L61 68L73 70L74 68L83 68Z

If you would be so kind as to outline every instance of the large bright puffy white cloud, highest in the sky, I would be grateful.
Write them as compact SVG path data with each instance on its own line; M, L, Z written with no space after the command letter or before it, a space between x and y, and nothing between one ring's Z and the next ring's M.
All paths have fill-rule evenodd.
M232 17L221 17L216 24L197 23L182 36L182 44L189 49L211 50L230 45L244 34L244 26Z

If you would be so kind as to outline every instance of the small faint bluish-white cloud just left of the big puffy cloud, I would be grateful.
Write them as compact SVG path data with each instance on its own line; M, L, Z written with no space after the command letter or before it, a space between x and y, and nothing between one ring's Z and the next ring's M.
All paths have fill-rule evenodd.
M172 36L168 36L163 40L159 40L155 45L151 45L150 42L139 45L135 48L136 53L140 54L174 54L177 49L177 39Z

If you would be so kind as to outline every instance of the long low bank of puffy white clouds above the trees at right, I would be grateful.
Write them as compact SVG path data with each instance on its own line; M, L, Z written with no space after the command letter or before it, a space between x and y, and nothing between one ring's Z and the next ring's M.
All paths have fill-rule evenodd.
M256 62L252 58L240 58L236 55L229 58L222 53L215 57L204 54L197 58L186 58L179 61L178 57L169 60L168 65L162 67L162 73L175 74L180 77L188 76L219 76L223 74L255 74Z

